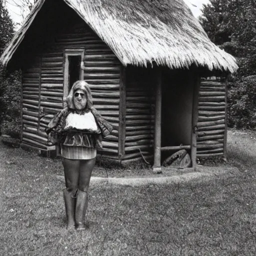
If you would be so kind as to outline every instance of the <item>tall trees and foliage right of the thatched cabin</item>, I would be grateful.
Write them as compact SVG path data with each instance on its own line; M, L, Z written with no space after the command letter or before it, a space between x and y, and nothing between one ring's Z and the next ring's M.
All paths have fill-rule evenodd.
M199 22L209 38L236 57L228 82L228 126L256 129L256 1L209 0Z

